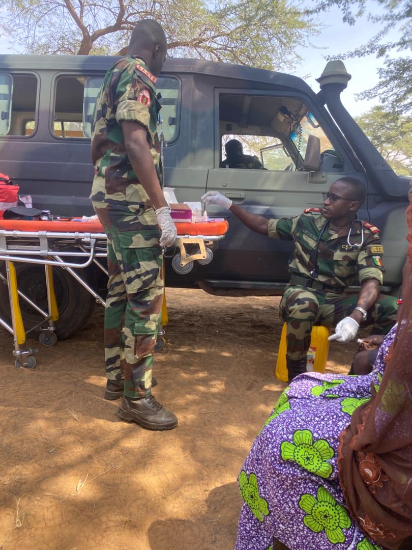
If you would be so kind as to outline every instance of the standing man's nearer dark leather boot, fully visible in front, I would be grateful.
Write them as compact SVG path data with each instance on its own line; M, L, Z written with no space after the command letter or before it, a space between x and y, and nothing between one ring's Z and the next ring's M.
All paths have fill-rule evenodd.
M127 422L137 422L149 430L171 430L177 426L176 415L164 409L153 395L142 399L130 399L123 395L118 416Z

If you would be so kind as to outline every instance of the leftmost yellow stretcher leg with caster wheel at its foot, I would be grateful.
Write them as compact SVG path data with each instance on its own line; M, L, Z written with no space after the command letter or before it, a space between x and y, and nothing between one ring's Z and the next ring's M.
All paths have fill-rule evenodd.
M14 357L16 357L14 365L16 367L35 368L36 359L32 356L32 353L35 353L35 351L37 350L34 350L32 348L29 348L27 350L20 349L20 346L26 342L26 332L24 330L23 319L21 318L19 294L17 289L17 277L13 262L6 260L5 269L7 272L10 313L12 316L12 333L14 340L13 355Z

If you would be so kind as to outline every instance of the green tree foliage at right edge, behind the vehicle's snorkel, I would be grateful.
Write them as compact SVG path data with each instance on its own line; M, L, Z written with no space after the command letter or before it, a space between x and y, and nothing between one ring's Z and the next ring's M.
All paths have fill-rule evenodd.
M409 117L374 107L355 120L397 174L412 175L412 121Z

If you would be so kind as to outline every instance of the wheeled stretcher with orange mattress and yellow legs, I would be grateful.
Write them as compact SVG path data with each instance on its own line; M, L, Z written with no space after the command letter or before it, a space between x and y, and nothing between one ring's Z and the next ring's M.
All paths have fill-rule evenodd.
M226 221L176 223L177 239L172 249L165 252L172 257L177 273L189 273L195 261L206 265L213 260L216 241L224 238L229 224ZM94 263L106 275L101 258L107 257L107 238L99 221L61 219L55 221L0 219L0 260L5 262L5 275L0 280L8 285L12 325L0 317L0 326L14 337L16 367L35 368L35 349L21 349L26 342L26 331L21 317L19 299L23 299L41 314L43 320L30 330L40 327L39 341L43 345L57 342L54 323L59 312L53 287L53 266L63 267L92 294L96 303L105 305L102 296L90 287L76 270ZM179 249L179 251L177 251ZM18 289L14 262L44 265L47 289L47 309L44 311ZM167 315L165 301L162 318ZM46 326L43 326L46 323ZM27 331L29 332L29 331ZM160 331L162 334L163 331Z

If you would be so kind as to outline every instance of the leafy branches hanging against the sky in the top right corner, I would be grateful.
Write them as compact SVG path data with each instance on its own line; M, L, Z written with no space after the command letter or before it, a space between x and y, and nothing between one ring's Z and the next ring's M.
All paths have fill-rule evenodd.
M366 0L320 0L307 10L310 15L319 14L337 6L342 10L343 21L354 25L357 18L366 13ZM399 56L399 52L412 50L412 0L375 0L375 13L369 13L371 23L380 30L364 45L349 52L342 52L332 58L364 57L375 54L383 58L384 67L378 69L379 82L370 90L359 94L360 99L378 97L383 106L398 114L412 112L412 58ZM389 31L398 30L395 41L386 40ZM393 53L397 56L393 57Z

